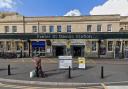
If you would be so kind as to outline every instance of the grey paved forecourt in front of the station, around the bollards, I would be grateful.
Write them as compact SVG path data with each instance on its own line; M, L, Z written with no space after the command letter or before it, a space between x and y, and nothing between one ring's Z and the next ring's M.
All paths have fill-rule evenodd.
M88 59L86 69L78 69L77 59L73 60L73 69L71 71L71 79L68 79L68 70L60 70L58 68L57 58L42 58L42 67L45 73L48 75L45 78L29 78L29 72L34 69L31 58L21 59L0 59L0 82L2 79L17 81L28 81L29 83L51 83L52 85L72 85L72 86L88 86L89 84L99 85L101 83L116 84L118 86L121 82L124 85L128 85L128 60L119 59ZM7 66L11 65L11 76L7 75ZM104 79L101 79L101 66L104 66ZM8 80L4 81L8 82ZM24 82L25 83L25 82ZM123 86L124 86L123 85ZM2 86L2 85L1 85ZM3 85L4 86L4 85ZM6 88L6 87L5 87ZM101 87L103 88L103 87ZM1 89L1 88L0 88ZM33 89L33 88L30 88ZM36 88L34 88L36 89ZM39 88L40 89L40 88ZM45 89L45 88L43 88ZM60 88L59 88L60 89ZM67 88L66 88L67 89ZM81 88L82 89L82 88ZM88 88L91 89L91 88ZM96 88L92 88L96 89ZM99 89L99 88L97 88ZM105 88L103 88L105 89ZM108 88L113 89L113 88ZM127 88L123 88L127 89Z

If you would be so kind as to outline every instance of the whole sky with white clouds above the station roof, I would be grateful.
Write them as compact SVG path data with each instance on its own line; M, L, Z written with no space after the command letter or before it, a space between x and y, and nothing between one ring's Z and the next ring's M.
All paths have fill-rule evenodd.
M0 11L24 16L128 16L128 0L0 0Z

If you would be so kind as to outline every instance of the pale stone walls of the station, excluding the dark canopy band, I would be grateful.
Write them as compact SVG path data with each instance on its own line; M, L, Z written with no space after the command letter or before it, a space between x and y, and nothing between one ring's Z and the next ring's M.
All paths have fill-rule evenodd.
M51 30L53 29L51 32L50 26L52 26ZM70 33L127 32L128 17L120 15L25 17L15 12L0 13L1 34L61 34L68 33L67 29L71 30ZM45 46L34 47L34 42L39 41L45 42ZM0 52L1 55L13 53L16 56L19 55L19 57L29 57L35 53L40 53L41 56L55 57L68 55L68 51L70 51L70 55L74 57L114 58L115 48L119 46L120 57L118 58L121 58L124 55L125 47L128 46L128 39L103 39L101 43L105 47L101 47L101 50L105 52L99 54L99 39L50 39L50 45L46 41L47 39L29 39L29 42L22 40L22 38L0 39Z

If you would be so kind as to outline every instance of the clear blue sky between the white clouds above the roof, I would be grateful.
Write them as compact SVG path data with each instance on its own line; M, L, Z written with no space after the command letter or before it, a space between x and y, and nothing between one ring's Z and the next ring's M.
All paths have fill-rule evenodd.
M83 15L103 4L106 0L22 0L18 11L26 16L63 16L68 11L79 9Z

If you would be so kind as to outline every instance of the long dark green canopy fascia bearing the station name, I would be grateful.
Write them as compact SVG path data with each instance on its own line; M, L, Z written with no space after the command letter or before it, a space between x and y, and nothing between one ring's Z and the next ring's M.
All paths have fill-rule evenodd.
M128 32L0 33L0 39L126 39Z

